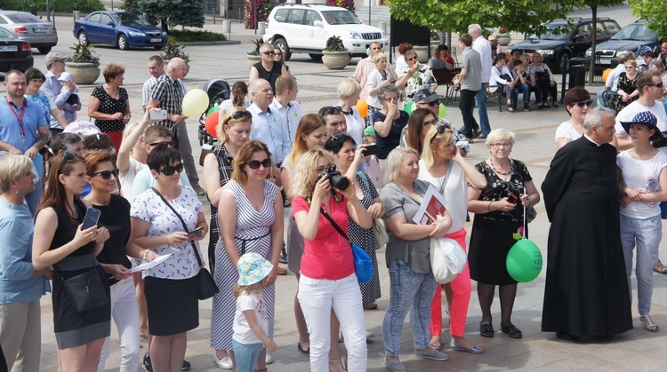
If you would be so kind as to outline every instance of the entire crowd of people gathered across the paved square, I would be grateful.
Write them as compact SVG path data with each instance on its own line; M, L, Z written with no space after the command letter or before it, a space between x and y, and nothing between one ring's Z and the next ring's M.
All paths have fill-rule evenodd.
M138 123L130 123L125 67L105 68L88 115L113 144L109 151L86 151L84 138L68 130L81 104L63 55L46 56L46 75L10 71L0 105L0 149L7 153L0 157L0 346L9 369L39 369L39 304L49 291L59 369L104 370L112 321L121 370L189 368L188 331L199 326L198 301L207 298L199 247L206 237L216 288L210 345L220 368L263 371L272 362L276 279L286 273L281 261L298 281L296 348L315 371L366 370L366 339L374 333L364 313L378 307L383 273L390 279L384 366L392 371L406 370L400 349L408 311L417 357L448 359L443 306L449 349L485 352L465 337L471 281L482 312L479 335L495 335L497 286L498 327L521 338L511 321L518 281L505 261L516 234L528 237L542 198L526 164L510 157L515 134L491 130L481 102L488 84L506 91L510 111L519 90L526 111L531 90L538 107L558 106L556 84L539 53L518 55L507 66L478 25L459 42L459 131L439 117L431 68L408 46L400 50L405 66L395 69L381 45L372 44L354 77L340 83L336 106L304 114L282 51L262 45L248 82L234 83L216 114L217 144L203 161L205 189L182 114L182 59L166 67L158 56L149 59ZM453 67L447 48L438 51L445 68ZM627 104L618 115L591 108L582 87L567 91L571 118L556 131L558 151L542 183L551 222L542 330L562 339L632 328L633 255L640 321L647 331L659 330L650 307L652 271L663 272L660 203L667 202L663 72L628 70L619 77L628 99L618 93ZM624 79L633 88L626 91ZM355 107L360 98L368 103L366 120ZM410 113L403 109L409 102ZM152 119L162 111L165 119ZM471 139L484 139L489 152L474 165L466 160ZM446 212L417 224L429 190L445 198ZM291 208L286 226L285 208ZM378 265L378 229L388 236L387 272ZM468 253L462 272L446 284L436 281L430 261L431 241L440 238ZM355 248L372 263L369 281L358 280ZM143 357L141 337L149 339Z

